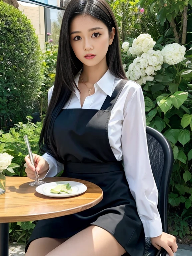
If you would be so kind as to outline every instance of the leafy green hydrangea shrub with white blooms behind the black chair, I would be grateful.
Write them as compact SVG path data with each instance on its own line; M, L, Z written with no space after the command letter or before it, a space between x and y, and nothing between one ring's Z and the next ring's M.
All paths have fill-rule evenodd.
M146 125L162 132L172 146L169 220L171 233L182 238L191 234L187 219L192 213L192 49L155 43L149 34L139 35L132 45L124 42L123 51L132 60L124 67L127 77L143 88Z

